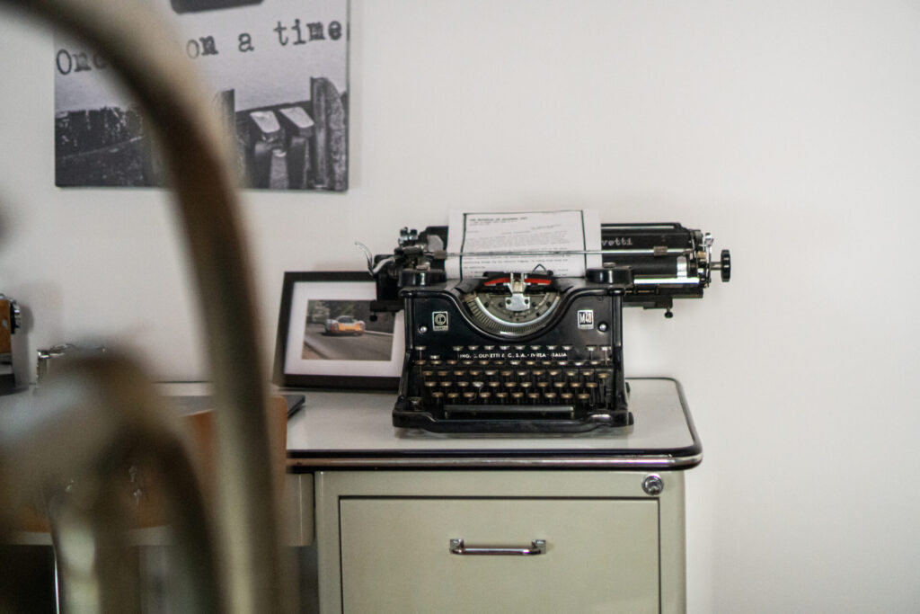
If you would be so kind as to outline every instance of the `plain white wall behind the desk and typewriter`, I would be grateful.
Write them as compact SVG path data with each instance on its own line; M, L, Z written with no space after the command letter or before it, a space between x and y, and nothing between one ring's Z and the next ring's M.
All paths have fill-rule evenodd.
M627 312L684 383L692 612L916 611L920 6L353 0L351 190L245 194L266 356L284 271L472 210L593 207L730 247L702 301ZM52 41L0 17L0 291L30 351L206 377L167 197L53 187ZM268 361L268 357L266 357ZM642 417L637 416L637 420Z

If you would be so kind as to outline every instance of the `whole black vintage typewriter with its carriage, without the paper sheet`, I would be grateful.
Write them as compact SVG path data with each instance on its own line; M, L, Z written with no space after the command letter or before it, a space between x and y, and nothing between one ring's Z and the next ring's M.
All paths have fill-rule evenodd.
M393 424L437 433L578 433L633 423L623 307L701 297L730 279L728 250L679 224L602 225L604 266L583 277L487 272L448 280L447 228L404 228L368 258L375 311L405 309L406 357ZM539 255L540 252L531 252ZM551 253L551 252L546 252ZM552 252L558 253L558 252Z

